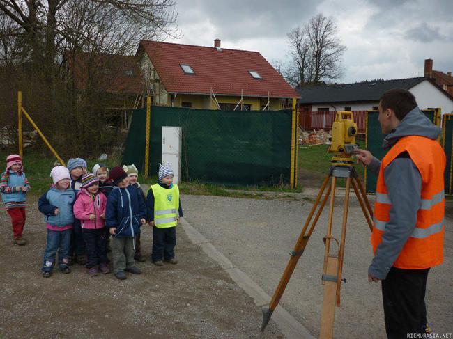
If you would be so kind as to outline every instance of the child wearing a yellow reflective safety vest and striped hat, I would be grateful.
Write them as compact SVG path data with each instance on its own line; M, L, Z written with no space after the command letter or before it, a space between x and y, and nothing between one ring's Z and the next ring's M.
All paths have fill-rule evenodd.
M151 261L162 266L162 259L177 264L174 247L176 246L176 225L183 216L178 185L173 184L173 168L170 164L159 166L159 180L148 190L146 197L148 221L153 226L153 251Z

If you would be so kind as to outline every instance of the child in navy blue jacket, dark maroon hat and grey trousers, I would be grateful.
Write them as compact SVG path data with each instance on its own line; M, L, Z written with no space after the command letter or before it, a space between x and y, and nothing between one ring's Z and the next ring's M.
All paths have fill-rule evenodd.
M113 235L112 261L116 278L124 280L125 271L141 274L135 266L134 237L146 223L146 205L137 187L129 185L128 175L123 168L114 167L110 171L114 189L107 198L105 225Z

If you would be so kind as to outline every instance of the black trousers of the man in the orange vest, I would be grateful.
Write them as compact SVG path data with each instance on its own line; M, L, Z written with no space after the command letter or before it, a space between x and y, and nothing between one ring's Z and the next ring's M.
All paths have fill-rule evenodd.
M407 333L425 333L424 294L428 272L429 269L392 267L382 281L385 331L389 339L407 338Z

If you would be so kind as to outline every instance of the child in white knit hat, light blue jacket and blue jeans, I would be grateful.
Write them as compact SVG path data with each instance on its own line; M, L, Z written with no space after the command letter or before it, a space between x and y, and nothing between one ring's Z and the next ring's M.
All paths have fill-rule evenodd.
M68 168L56 166L52 168L50 176L54 181L54 186L38 201L38 209L45 215L47 226L47 245L41 269L45 278L52 276L56 251L59 251L60 271L70 273L68 254L74 223L72 205L75 200L75 192L70 188Z

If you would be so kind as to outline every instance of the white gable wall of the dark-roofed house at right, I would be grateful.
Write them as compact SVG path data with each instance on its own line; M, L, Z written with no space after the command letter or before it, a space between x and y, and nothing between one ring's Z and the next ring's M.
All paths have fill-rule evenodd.
M418 107L427 109L428 107L440 107L442 113L453 113L453 100L441 92L439 88L424 80L410 88L410 93L415 96Z

